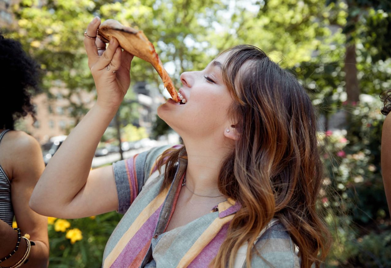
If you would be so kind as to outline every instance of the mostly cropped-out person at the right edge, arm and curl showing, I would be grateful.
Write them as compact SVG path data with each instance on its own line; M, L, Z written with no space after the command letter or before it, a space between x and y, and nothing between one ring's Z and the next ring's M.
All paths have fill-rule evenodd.
M382 114L388 115L391 112L391 89L380 95L384 106ZM388 209L391 211L391 116L387 116L383 123L382 130L382 175L384 191L386 191Z

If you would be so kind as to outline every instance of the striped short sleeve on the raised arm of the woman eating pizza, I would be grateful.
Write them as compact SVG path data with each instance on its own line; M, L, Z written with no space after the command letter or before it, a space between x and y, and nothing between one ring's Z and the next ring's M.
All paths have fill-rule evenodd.
M115 184L118 193L118 212L125 214L141 191L151 171L156 169L156 159L168 148L155 147L143 153L113 163ZM176 147L176 146L174 146Z

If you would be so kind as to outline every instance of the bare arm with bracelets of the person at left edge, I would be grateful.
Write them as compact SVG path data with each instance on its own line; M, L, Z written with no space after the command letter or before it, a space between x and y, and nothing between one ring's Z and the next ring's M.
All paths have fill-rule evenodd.
M30 250L29 262L23 267L47 267L49 257L47 217L37 214L29 207L31 192L45 168L41 148L35 138L24 132L13 131L8 135L13 136L12 139L8 139L8 146L12 147L12 150L8 150L8 158L10 163L13 163L9 172L11 174L8 175L11 178L11 198L16 222L18 228L21 229L22 236L29 234L30 240L36 244ZM3 223L0 227L1 234L4 236L1 244L6 244L9 252L4 253L2 250L1 257L14 249L17 238L17 233L13 228ZM12 242L5 243L5 241ZM9 263L2 263L2 266L8 267L17 263L26 252L26 246L25 240L22 239L17 254L7 260Z

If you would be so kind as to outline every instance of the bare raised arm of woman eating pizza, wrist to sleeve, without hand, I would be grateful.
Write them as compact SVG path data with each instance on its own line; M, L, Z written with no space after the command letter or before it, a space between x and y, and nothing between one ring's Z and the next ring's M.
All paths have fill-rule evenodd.
M95 105L72 130L39 179L30 200L32 209L66 219L117 209L112 167L90 171L95 149L115 112Z

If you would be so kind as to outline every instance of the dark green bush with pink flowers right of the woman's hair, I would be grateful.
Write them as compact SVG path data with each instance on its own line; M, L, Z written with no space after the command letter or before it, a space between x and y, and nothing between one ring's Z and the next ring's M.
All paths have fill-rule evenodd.
M326 185L323 206L335 243L330 267L391 267L391 226L380 167L380 101L344 106L346 130L320 135Z

